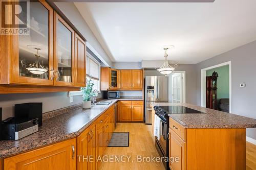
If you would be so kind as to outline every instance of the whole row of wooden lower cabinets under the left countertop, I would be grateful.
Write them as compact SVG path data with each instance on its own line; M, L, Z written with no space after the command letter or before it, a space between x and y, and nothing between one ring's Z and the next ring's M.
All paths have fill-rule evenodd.
M96 170L115 129L111 106L76 138L0 159L0 170ZM3 168L2 165L4 164Z

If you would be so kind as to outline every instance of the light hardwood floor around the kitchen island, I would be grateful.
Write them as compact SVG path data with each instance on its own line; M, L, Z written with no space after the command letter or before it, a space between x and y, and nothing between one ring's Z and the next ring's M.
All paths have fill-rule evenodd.
M118 123L115 132L130 132L130 146L126 148L107 148L105 155L131 156L126 162L103 162L100 170L117 169L152 169L164 170L161 162L138 162L137 155L144 157L159 156L151 125L143 123ZM126 158L126 160L128 160ZM256 145L246 142L246 170L256 170Z

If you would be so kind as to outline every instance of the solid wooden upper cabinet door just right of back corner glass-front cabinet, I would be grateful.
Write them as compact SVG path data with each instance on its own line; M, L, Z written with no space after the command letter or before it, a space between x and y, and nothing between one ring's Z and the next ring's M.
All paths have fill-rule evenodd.
M120 89L132 89L132 70L120 70Z

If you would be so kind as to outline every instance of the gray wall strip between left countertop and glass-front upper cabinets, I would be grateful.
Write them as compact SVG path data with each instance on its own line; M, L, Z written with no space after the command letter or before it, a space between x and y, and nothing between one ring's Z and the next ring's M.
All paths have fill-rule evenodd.
M42 112L48 112L63 107L79 104L82 96L74 96L74 102L69 103L68 92L31 93L31 94L0 94L0 107L3 108L2 118L14 114L14 105L28 102L42 102Z

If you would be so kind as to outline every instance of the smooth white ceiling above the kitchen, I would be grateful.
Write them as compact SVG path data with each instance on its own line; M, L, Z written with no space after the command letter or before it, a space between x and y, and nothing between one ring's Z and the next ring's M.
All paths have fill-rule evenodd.
M255 0L75 3L112 61L198 63L256 40Z

